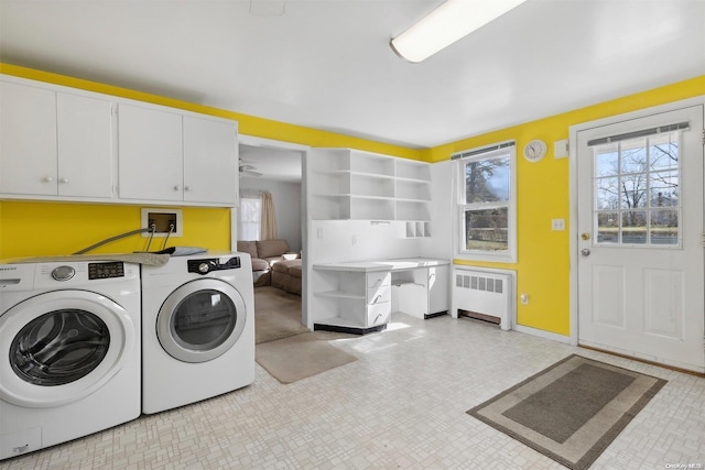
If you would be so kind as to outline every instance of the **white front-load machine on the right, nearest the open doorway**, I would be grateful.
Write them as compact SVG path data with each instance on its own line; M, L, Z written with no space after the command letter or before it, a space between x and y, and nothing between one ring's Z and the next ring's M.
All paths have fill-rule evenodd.
M247 253L172 256L142 266L142 412L254 381L254 294Z

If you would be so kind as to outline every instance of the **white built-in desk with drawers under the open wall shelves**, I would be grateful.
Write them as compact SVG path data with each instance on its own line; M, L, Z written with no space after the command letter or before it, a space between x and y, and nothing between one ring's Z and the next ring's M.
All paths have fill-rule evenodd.
M314 330L379 331L392 303L421 318L441 315L448 309L449 264L429 258L314 264Z

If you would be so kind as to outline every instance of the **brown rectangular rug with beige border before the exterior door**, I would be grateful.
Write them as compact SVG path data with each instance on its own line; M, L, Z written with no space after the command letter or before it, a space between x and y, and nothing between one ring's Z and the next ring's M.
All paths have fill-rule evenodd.
M587 469L666 381L572 354L467 413Z

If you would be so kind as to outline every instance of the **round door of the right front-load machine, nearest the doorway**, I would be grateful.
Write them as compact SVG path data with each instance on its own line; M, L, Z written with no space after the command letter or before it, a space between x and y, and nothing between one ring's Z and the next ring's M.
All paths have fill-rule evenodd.
M210 361L235 345L245 329L245 300L217 278L188 282L172 292L156 317L162 348L183 362Z

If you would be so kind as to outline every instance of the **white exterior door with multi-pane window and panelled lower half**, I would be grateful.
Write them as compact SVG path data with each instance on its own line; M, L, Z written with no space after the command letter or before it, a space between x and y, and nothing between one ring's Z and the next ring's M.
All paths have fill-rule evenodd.
M705 372L703 105L576 136L578 342Z

